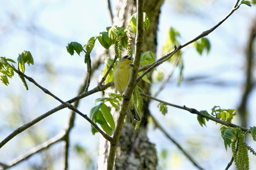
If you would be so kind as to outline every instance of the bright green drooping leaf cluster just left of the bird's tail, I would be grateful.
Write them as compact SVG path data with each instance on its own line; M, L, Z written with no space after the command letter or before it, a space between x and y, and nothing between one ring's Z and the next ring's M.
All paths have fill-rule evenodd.
M116 109L119 108L119 101L122 100L122 96L120 94L108 93L109 98L99 98L95 100L95 103L101 101L101 103L95 107L93 107L90 111L90 119L99 123L102 127L103 131L105 131L108 135L111 136L111 129L114 131L115 122L112 117L112 114L109 110L109 107L105 104L105 102L109 101L113 107ZM117 104L115 104L117 103ZM92 134L97 133L98 131L91 125Z

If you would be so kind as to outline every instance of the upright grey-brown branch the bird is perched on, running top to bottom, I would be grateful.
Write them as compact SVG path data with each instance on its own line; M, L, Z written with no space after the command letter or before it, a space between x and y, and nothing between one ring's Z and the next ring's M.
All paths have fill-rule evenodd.
M140 65L140 58L142 54L142 45L143 45L143 9L144 9L144 0L137 0L137 33L135 38L135 57L133 61L133 66L131 75L127 84L126 89L122 94L122 104L120 108L120 113L117 119L116 128L113 133L113 140L110 143L110 151L107 161L107 169L112 170L114 166L116 146L122 131L124 117L127 112L127 106L131 100L134 88L136 86L136 77L138 74L138 69Z

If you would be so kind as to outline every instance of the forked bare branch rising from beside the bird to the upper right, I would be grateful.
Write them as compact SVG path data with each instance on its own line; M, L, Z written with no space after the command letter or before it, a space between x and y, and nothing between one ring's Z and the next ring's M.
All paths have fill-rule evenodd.
M195 37L194 39L192 39L191 41L183 44L183 45L180 45L177 49L173 49L172 51L170 51L168 54L166 54L165 56L159 58L158 60L156 60L155 62L151 63L151 64L147 64L143 67L141 67L139 69L139 72L140 71L145 71L144 73L147 74L148 72L150 72L152 69L154 69L155 67L159 66L160 64L162 64L164 61L168 60L169 58L171 58L176 52L178 52L181 48L183 47L186 47L187 45L197 41L198 39L202 38L202 37L205 37L207 35L209 35L211 32L213 32L217 27L219 27L229 16L231 16L239 7L237 6L239 1L236 2L235 6L233 7L233 9L228 13L228 15L222 20L220 21L217 25L215 25L214 27L212 27L211 29L209 30L206 30L204 31L202 34L200 34L199 36ZM138 79L137 79L137 82L139 82L142 77L145 75L145 74L142 74Z

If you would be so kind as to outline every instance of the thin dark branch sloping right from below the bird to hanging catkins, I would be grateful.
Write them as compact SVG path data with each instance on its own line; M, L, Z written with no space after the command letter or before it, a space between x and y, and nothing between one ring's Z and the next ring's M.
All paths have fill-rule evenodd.
M175 104L171 104L171 103L168 103L168 102L165 102L165 101L161 101L161 100L159 100L159 99L157 99L157 98L154 98L154 97L152 97L152 96L149 96L149 95L147 95L147 94L145 94L145 93L141 93L141 92L140 92L140 94L141 94L142 96L146 96L147 98L153 99L153 100L155 100L155 101L159 101L159 102L161 102L161 103L163 103L163 104L166 104L166 105L169 105L169 106L172 106L172 107L176 107L176 108L179 108L179 109L183 109L183 110L189 111L189 112L191 112L191 113L193 113L193 114L197 114L197 115L199 115L199 116L201 116L201 117L205 117L205 118L207 118L207 119L210 119L210 120L212 120L212 121L214 121L214 122L223 124L223 125L225 125L225 126L239 127L239 128L241 128L241 130L244 131L244 132L246 132L246 131L249 130L249 129L245 128L245 127L242 127L242 126L239 126L239 125L230 123L230 122L222 121L222 120L217 119L217 118L215 118L215 117L208 116L208 115L206 115L206 114L204 114L204 113L202 113L202 112L198 112L198 111L195 110L195 109L188 108L188 107L186 107L185 105L182 107L182 106L178 106L178 105L175 105ZM250 132L249 132L249 133L250 133Z

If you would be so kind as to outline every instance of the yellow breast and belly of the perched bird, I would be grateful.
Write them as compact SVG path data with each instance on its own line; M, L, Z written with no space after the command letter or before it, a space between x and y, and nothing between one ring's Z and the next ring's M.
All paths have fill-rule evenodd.
M121 94L125 90L131 74L132 68L129 66L130 62L131 60L129 59L121 60L113 71L115 86Z

